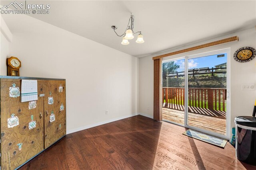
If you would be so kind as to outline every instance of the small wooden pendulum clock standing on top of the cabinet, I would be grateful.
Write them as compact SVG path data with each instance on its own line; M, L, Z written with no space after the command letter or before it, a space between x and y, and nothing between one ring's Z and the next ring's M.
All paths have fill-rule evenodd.
M20 76L21 62L17 57L7 59L7 76Z

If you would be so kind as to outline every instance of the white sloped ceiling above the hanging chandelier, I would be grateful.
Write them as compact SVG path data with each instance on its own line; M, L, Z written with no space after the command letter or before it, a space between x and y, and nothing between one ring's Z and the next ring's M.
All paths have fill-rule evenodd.
M28 1L27 1L28 3ZM195 41L256 25L256 1L29 1L50 4L50 14L31 16L135 57L142 57ZM1 5L3 3L1 2ZM121 45L130 13L134 31L142 31Z

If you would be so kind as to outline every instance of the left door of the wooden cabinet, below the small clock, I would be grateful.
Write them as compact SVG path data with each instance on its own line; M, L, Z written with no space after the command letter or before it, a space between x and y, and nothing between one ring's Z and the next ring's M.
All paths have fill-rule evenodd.
M9 79L7 82L20 84L20 81ZM11 98L2 86L6 86L6 80L1 79L1 94L4 94L1 95L1 107L4 106L1 109L1 169L9 170L44 149L44 121L41 116L44 100L38 98L36 107L32 108L29 102L21 103L19 97Z

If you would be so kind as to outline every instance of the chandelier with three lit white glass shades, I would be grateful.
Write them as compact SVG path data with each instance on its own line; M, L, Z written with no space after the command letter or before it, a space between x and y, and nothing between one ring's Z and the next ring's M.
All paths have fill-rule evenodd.
M131 23L131 25L129 25ZM127 27L126 27L126 30L124 31L124 33L122 34L122 35L118 35L117 33L116 33L116 29L117 29L117 27L115 26L115 25L112 25L111 26L111 28L112 29L114 29L114 32L116 33L116 35L118 36L118 37L123 37L123 40L122 40L122 45L128 45L128 44L130 44L129 43L129 39L133 39L134 38L134 34L136 34L136 33L140 33L139 35L138 35L138 37L137 37L137 40L136 40L136 43L139 43L139 44L141 44L141 43L144 43L144 40L143 40L143 35L142 35L142 33L141 33L141 31L138 31L138 32L134 32L133 31L133 27L134 27L134 16L133 15L131 15L130 16L130 19L129 19L129 22L128 22L128 25L127 25Z

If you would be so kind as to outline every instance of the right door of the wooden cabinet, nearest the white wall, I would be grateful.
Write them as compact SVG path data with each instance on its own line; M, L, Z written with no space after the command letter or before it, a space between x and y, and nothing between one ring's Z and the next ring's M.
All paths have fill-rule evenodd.
M62 83L62 84L61 84ZM61 86L60 86L61 84ZM44 148L66 135L65 81L47 80L44 98ZM59 88L62 87L62 90Z

